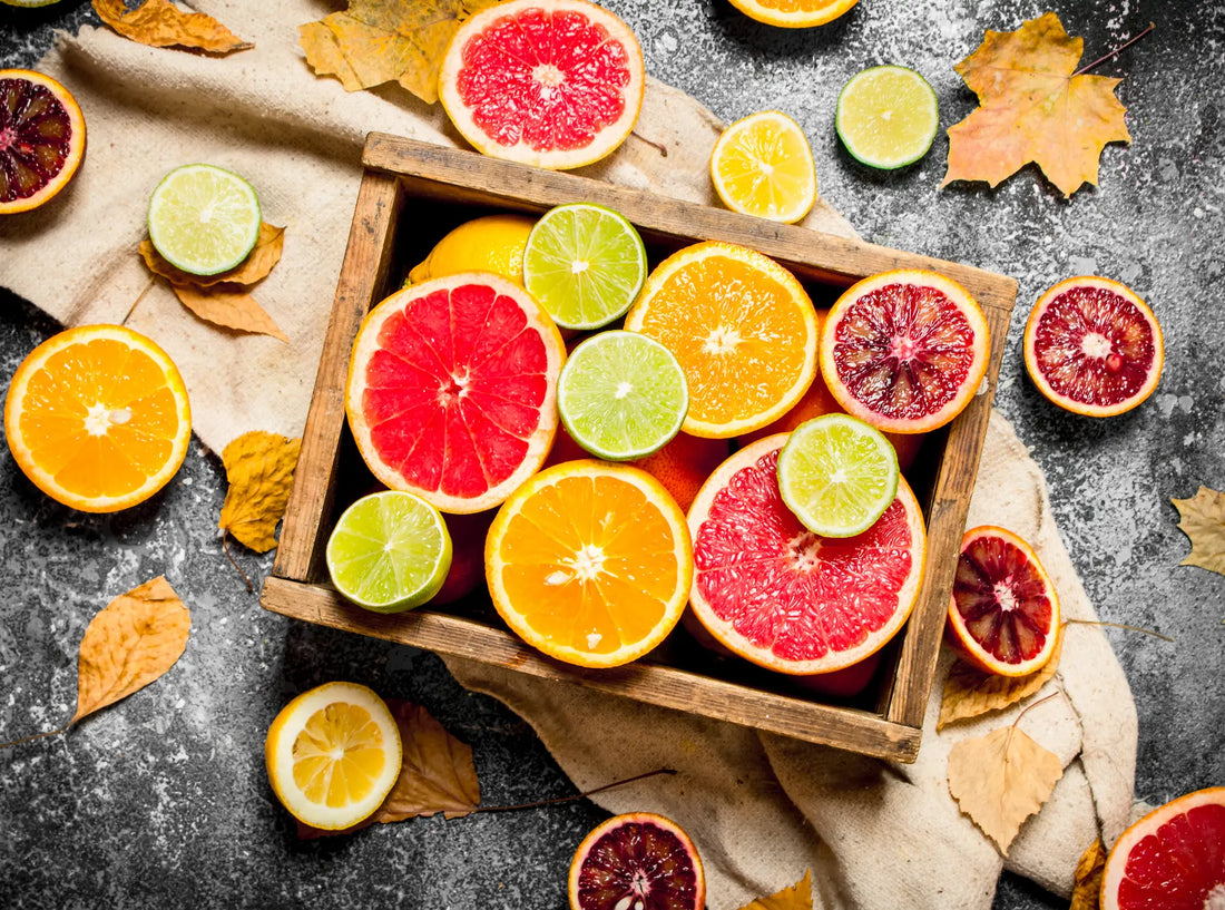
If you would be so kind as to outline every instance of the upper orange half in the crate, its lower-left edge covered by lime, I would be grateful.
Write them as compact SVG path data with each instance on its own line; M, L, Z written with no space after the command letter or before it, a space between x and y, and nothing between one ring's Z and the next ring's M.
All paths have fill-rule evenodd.
M682 430L739 436L783 416L817 372L817 314L804 287L756 250L708 241L655 267L625 327L668 348L690 389Z

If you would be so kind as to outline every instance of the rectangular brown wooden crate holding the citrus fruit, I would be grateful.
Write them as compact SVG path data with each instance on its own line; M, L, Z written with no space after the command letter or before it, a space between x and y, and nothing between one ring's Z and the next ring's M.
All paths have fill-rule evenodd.
M499 162L473 152L371 133L363 157L348 251L323 343L301 457L266 609L307 622L472 658L652 704L913 762L944 627L944 610L995 382L1017 295L1011 278L858 240L620 189L571 174ZM891 643L875 683L858 699L822 698L778 674L701 650L680 630L628 666L584 670L526 645L489 606L488 594L446 607L383 616L353 606L331 587L323 549L339 512L370 489L344 416L349 350L363 317L399 287L408 268L447 230L488 212L539 214L565 202L597 202L642 233L652 265L698 240L750 246L790 268L817 306L855 280L891 268L929 268L965 285L991 327L986 391L952 424L931 434L911 485L927 519L927 565L919 601Z

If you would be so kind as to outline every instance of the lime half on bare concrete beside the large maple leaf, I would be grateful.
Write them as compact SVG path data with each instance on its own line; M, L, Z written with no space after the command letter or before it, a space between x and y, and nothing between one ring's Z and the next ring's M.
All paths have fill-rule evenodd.
M856 160L882 170L904 168L927 154L936 138L936 92L905 66L873 66L843 86L834 125Z

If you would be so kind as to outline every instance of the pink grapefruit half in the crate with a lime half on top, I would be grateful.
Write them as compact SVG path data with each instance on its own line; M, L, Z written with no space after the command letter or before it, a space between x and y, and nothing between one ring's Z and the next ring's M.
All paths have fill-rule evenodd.
M884 514L854 538L822 538L784 505L786 435L740 449L690 508L690 606L725 648L794 675L864 660L905 622L922 581L926 533L904 479Z

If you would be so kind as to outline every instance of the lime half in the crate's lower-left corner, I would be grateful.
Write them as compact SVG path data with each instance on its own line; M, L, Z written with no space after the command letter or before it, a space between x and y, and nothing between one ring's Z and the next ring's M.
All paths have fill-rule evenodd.
M345 598L375 612L401 612L439 593L451 571L451 535L420 496L386 490L344 510L326 557Z

